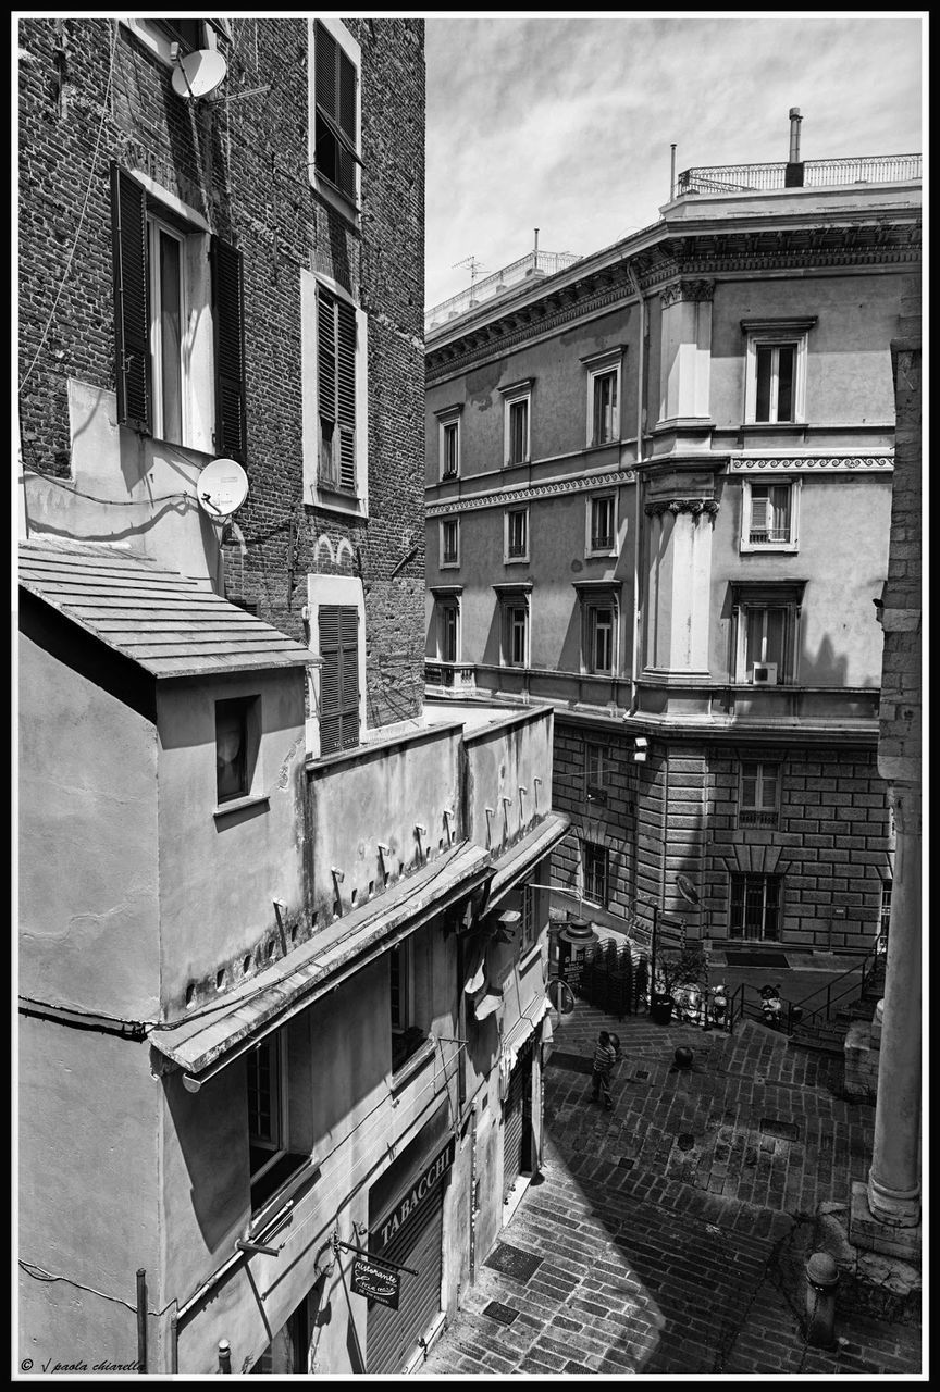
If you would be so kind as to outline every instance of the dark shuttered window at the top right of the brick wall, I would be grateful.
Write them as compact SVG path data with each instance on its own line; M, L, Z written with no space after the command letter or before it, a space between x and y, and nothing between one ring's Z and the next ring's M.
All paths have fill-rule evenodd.
M313 21L315 184L340 195L330 199L355 212L359 159L359 46L337 19ZM343 206L345 202L345 206Z

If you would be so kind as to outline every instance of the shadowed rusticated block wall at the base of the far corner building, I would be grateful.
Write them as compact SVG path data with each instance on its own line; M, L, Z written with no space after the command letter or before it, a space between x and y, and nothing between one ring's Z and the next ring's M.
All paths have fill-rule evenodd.
M863 951L879 928L882 885L890 878L886 786L875 749L792 746L748 757L778 763L781 807L774 828L738 827L741 749L650 739L645 764L632 760L632 735L609 739L614 766L606 806L585 798L582 728L556 714L553 803L582 837L611 849L614 913L652 905L682 915L689 933L707 923L727 935L730 874L783 876L781 942L806 951ZM578 883L575 838L554 855L558 884ZM692 881L705 919L675 887Z

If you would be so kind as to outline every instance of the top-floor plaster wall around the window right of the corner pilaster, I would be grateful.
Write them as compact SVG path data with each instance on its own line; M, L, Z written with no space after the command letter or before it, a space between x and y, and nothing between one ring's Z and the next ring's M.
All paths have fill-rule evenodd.
M893 425L891 334L897 329L901 277L812 276L719 281L712 317L712 418L717 429L744 420L745 334L742 319L816 316L806 352L806 415L813 425ZM765 427L766 429L766 427ZM792 438L792 427L788 427ZM866 434L865 438L869 438Z

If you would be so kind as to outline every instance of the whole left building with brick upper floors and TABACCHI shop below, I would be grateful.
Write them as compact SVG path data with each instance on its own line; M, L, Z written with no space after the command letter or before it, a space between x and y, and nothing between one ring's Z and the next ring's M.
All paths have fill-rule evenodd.
M538 1171L567 831L550 706L423 706L423 29L18 42L18 1357L397 1374Z

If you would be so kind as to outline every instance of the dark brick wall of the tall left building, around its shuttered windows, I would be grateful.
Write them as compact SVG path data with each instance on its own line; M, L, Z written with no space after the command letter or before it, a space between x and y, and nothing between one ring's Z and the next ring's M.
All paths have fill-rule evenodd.
M124 25L19 22L24 462L67 477L68 377L114 388L109 161L149 168L244 253L251 487L227 593L304 639L306 574L361 575L368 720L386 724L423 690L423 24L344 21L362 50L358 234L308 180L306 21L233 22L226 90L269 92L227 107L175 97ZM369 315L368 521L302 501L301 269Z

